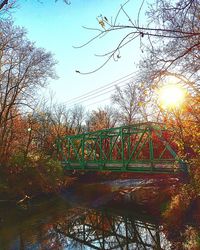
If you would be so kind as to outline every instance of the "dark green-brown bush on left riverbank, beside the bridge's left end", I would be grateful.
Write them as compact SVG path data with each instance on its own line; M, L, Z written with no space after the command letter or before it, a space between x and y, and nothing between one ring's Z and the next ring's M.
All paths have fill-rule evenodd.
M6 190L6 196L11 198L59 192L72 182L58 160L42 153L13 155L1 176L7 188L0 185L0 192Z

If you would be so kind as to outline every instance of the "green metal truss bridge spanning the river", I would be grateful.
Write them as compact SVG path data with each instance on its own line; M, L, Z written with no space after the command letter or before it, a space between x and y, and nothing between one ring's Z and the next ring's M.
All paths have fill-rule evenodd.
M177 155L174 132L159 123L142 123L66 135L57 139L66 170L186 173Z

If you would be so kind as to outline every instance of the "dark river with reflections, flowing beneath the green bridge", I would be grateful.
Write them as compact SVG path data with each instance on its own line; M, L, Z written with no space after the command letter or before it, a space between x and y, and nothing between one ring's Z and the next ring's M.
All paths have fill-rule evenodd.
M1 202L0 249L170 250L158 213L127 196L139 185L140 180L82 184L18 206Z

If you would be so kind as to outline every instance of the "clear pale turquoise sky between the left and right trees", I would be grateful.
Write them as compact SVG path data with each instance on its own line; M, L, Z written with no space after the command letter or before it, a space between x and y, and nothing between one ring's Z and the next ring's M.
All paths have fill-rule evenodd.
M109 96L114 93L114 83L122 86L130 81L140 59L138 40L120 51L120 60L111 60L101 70L86 75L78 74L76 70L90 72L98 68L106 58L95 54L104 54L113 49L124 33L107 34L80 49L73 47L84 44L97 34L83 26L100 28L98 16L102 14L108 19L114 18L124 2L71 0L71 4L66 5L62 0L56 3L54 0L19 0L13 12L15 24L25 27L27 37L36 46L51 51L58 61L56 72L59 78L49 81L48 89L43 91L46 97L53 94L55 102L64 103L69 108L74 104L82 104L87 109L96 109L110 103ZM125 7L133 20L137 19L140 4L141 0L130 0ZM119 18L127 23L124 15ZM113 87L109 85L112 82ZM107 86L106 93L102 91L102 86ZM88 92L91 92L89 96L84 96Z

